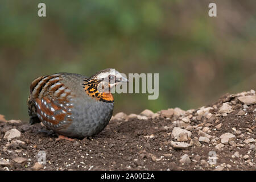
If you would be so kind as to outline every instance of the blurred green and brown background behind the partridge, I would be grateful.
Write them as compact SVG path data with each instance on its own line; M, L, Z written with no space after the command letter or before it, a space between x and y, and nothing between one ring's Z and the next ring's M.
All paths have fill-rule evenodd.
M38 3L47 17L39 18ZM210 2L217 17L208 16ZM159 73L159 98L115 94L114 113L197 108L256 88L256 1L0 2L0 114L28 120L31 81L104 68Z

